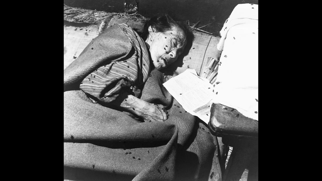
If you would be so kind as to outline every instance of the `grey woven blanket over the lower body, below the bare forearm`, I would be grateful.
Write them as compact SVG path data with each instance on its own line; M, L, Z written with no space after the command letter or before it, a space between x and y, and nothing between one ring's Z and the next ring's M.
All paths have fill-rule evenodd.
M141 99L165 105L165 122L64 92L65 180L221 180L216 138L165 90L161 72L151 75Z

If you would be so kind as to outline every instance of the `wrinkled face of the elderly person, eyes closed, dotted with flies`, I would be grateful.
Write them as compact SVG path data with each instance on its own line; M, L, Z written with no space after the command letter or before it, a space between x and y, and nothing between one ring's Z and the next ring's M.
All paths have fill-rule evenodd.
M150 45L153 64L157 70L175 62L185 49L186 36L180 28L173 27L172 30L166 32L153 32L151 29L149 34L150 38L147 41Z

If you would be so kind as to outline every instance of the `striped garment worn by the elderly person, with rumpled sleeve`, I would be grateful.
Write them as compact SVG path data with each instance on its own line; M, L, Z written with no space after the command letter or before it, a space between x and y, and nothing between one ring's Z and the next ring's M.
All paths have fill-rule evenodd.
M148 45L127 24L118 25L132 44L132 56L127 60L101 66L85 77L80 89L93 103L109 103L124 91L140 98L144 83L149 77Z

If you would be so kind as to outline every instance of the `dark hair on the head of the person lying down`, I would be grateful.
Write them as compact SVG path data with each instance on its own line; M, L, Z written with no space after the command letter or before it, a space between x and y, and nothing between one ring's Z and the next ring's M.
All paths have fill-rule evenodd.
M178 27L183 30L187 38L191 37L192 35L192 32L187 24L180 21L174 21L168 14L156 14L144 24L143 32L141 35L143 40L147 39L147 36L149 34L149 26L153 27L153 29L157 32L166 32L171 30L173 27Z

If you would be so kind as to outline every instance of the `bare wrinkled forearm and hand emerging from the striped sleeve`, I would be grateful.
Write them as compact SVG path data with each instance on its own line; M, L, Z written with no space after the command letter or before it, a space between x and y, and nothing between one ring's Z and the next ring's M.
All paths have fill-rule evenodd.
M124 92L118 96L111 104L134 113L144 119L144 121L165 121L168 113L163 105L151 104L145 100Z

